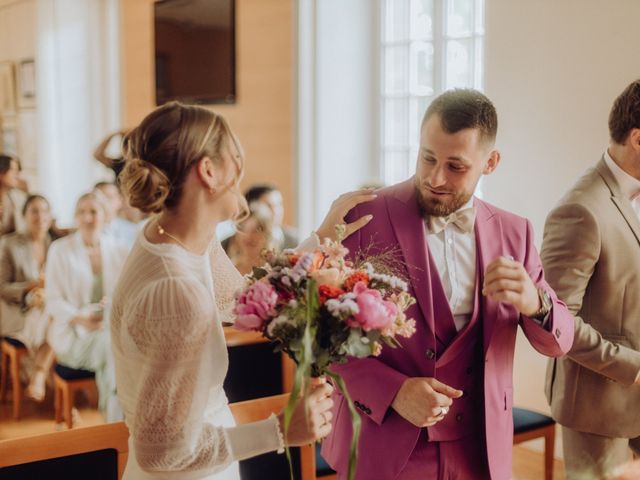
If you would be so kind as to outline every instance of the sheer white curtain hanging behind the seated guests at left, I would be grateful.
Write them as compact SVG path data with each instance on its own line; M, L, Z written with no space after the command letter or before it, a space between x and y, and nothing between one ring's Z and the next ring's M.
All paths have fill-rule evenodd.
M59 225L78 195L110 172L93 160L120 124L118 0L37 0L37 166L33 190Z

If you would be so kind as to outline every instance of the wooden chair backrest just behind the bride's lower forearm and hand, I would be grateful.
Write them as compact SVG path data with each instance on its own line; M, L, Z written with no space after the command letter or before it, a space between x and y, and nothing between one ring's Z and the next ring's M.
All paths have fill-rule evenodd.
M237 423L250 423L264 420L271 413L282 411L289 401L289 394L274 395L272 397L257 398L245 402L229 405ZM316 461L313 445L300 448L300 478L301 480L315 480Z

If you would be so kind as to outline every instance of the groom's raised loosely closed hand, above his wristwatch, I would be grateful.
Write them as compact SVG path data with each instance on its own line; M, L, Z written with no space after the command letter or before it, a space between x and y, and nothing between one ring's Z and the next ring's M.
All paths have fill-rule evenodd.
M540 309L540 297L535 283L520 262L498 257L484 272L482 293L490 300L510 303L528 317Z

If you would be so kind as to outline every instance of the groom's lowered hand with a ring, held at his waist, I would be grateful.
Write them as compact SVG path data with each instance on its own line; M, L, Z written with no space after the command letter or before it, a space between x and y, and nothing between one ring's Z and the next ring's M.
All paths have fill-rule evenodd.
M430 427L444 418L462 391L432 377L408 378L398 390L391 407L416 427Z

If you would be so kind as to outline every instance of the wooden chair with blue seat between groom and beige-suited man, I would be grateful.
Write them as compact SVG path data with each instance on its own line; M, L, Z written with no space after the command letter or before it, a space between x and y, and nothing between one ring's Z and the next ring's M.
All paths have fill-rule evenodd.
M556 422L541 413L513 408L513 444L534 438L544 438L544 478L553 480L553 452L556 439Z

